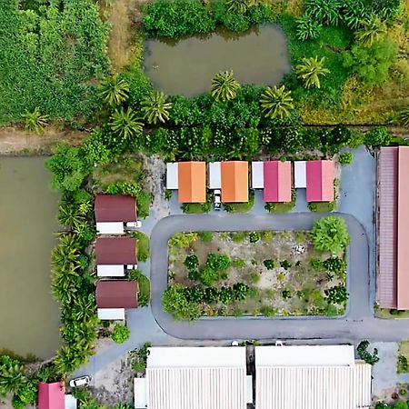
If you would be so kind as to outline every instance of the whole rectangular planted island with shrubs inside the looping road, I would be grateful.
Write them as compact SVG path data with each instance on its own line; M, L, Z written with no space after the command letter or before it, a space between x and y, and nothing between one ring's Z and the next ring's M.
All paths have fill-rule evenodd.
M329 241L328 233L334 234ZM169 240L164 309L188 320L342 315L348 299L347 243L344 220L337 217L320 219L311 232L175 234Z

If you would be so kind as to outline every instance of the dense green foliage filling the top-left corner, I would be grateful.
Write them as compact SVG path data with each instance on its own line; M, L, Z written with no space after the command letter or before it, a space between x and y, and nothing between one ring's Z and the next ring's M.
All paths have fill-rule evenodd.
M56 0L0 9L0 124L37 107L49 118L89 119L99 105L94 85L108 70L108 28L93 0Z

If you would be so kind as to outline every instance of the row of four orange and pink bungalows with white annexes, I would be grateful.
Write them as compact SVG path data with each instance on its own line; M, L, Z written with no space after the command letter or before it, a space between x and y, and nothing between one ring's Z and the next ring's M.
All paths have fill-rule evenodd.
M264 202L291 202L291 191L306 189L307 202L334 201L334 161L252 162L251 187L264 189ZM293 183L294 174L294 183ZM249 165L244 161L208 164L209 189L220 189L223 203L248 201ZM178 191L179 203L205 203L205 162L166 164L166 188Z

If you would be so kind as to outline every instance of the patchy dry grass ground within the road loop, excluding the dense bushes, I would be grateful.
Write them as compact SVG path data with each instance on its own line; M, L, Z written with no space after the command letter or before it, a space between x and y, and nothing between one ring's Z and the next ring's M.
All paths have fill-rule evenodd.
M297 244L304 245L303 254L294 250ZM185 234L185 239L184 234L177 234L177 240L169 242L169 284L199 284L189 279L185 258L195 254L200 269L209 253L225 254L231 261L231 266L214 282L215 288L244 283L250 291L244 301L201 302L203 315L344 314L345 305L328 304L324 290L345 285L345 274L337 276L324 271L322 262L330 254L316 251L308 232L214 233L205 241L201 234Z

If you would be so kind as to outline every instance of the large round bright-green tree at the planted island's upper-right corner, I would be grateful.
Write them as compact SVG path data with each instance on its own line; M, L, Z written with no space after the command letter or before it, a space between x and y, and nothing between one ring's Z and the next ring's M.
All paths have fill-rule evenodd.
M314 222L311 232L314 247L320 251L337 254L349 244L349 234L343 218L322 217Z

